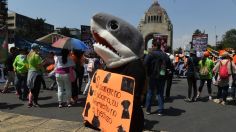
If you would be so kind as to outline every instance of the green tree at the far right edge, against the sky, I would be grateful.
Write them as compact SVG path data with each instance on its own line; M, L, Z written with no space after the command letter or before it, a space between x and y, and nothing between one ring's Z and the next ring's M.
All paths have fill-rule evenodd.
M234 48L236 49L236 29L230 29L223 35L221 42L223 48Z

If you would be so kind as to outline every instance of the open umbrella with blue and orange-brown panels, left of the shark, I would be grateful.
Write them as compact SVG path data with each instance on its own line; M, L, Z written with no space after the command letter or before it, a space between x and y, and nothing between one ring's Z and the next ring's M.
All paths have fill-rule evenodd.
M61 49L77 49L77 50L82 50L86 51L89 49L89 47L79 39L75 38L70 38L70 37L65 37L57 40L52 44L53 47L56 48L61 48Z

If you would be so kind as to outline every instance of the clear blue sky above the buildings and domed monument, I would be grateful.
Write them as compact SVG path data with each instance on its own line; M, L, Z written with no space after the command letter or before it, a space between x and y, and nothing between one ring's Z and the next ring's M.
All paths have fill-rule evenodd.
M226 31L236 28L236 0L158 0L173 24L173 48L184 47L193 32L208 34L216 43ZM118 16L135 27L153 0L8 0L9 11L32 18L46 19L55 27L78 28L90 25L98 12Z

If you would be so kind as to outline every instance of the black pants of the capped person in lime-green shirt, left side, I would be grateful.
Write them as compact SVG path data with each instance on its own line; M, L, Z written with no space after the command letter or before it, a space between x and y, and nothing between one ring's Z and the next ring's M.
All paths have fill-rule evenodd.
M39 92L40 92L40 88L42 84L42 79L43 77L41 75L38 75L34 82L34 88L31 89L31 93L33 95L33 101L35 104L38 104L38 97L39 97Z

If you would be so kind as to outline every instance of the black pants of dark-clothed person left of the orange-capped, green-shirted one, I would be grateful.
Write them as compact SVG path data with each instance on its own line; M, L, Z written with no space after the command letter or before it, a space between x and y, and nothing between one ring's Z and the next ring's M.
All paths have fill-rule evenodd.
M193 88L193 99L197 97L197 80L195 79L194 76L188 76L187 77L188 81L188 98L191 99L192 97L192 88Z

